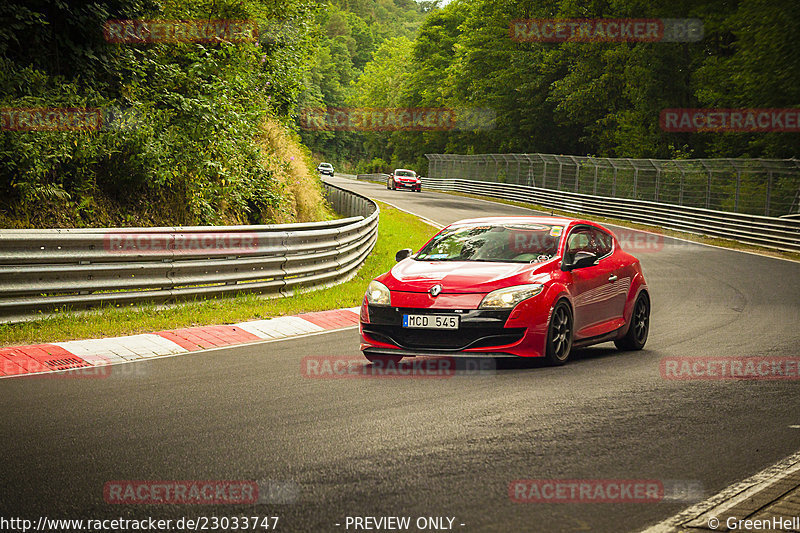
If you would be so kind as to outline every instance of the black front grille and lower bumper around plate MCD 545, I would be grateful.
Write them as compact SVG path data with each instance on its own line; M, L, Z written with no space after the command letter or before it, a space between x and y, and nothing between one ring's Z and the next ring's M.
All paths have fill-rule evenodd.
M457 330L404 328L404 314L458 314ZM467 348L486 348L513 344L525 335L525 328L503 327L508 311L468 310L454 313L442 309L404 309L370 306L370 324L364 324L364 333L376 341L394 344L409 350L458 351Z

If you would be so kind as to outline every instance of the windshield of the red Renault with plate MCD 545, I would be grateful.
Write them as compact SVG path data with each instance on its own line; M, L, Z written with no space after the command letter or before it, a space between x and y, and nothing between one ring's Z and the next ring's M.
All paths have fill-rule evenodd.
M436 235L415 259L538 263L555 257L563 231L551 224L454 226Z

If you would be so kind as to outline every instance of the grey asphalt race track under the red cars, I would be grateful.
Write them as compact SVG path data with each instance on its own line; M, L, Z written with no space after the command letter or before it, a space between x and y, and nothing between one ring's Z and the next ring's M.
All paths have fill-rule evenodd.
M440 223L523 211L334 181ZM457 531L640 530L689 503L513 503L509 483L682 480L707 496L800 448L798 382L659 371L666 356L797 356L800 264L662 244L639 254L653 300L642 352L609 343L561 368L512 361L451 379L303 377L304 356L357 356L351 329L123 365L105 379L0 380L0 516L277 515L279 531L447 516ZM289 484L293 501L103 499L109 480L225 479Z

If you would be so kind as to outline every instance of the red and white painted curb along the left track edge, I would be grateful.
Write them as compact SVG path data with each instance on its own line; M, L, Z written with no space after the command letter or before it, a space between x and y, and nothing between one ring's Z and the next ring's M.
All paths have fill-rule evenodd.
M283 339L358 325L358 307L80 341L0 348L0 377L59 372Z

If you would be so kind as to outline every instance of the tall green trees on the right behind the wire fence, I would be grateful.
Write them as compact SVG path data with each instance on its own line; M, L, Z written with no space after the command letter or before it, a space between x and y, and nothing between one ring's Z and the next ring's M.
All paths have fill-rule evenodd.
M529 18L698 18L683 43L531 43ZM402 37L402 36L400 36ZM385 40L329 105L488 107L490 131L327 134L312 147L360 169L425 171L425 153L542 152L611 157L792 157L797 133L674 133L665 108L800 106L796 0L453 0L411 42ZM352 74L350 74L352 78ZM387 83L391 80L391 83Z

